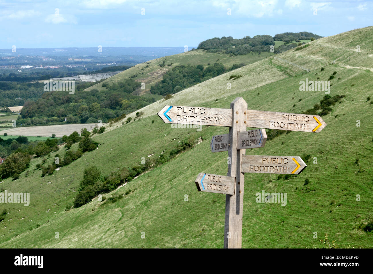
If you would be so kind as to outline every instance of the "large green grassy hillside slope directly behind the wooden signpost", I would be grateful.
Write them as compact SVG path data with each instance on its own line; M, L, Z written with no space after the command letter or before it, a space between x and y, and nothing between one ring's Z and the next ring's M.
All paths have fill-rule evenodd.
M6 208L9 212L0 223L0 247L222 248L225 196L198 192L194 180L200 172L226 174L228 154L211 153L209 146L211 136L228 129L175 129L164 124L157 111L166 104L228 108L242 96L250 109L301 113L325 94L299 91L299 82L317 77L326 81L336 72L329 95L345 98L323 116L327 126L322 132L288 132L267 141L264 148L246 150L252 155L298 155L309 160L301 174L288 179L275 174L245 174L242 247L321 247L319 240L327 233L341 247L372 248L373 233L364 231L367 224L373 224L373 104L372 99L367 100L373 98L372 31L369 27L321 38L301 50L260 60L148 105L140 120L106 125L109 130L93 138L100 143L98 149L52 176L41 178L40 170L32 172L41 159L32 160L27 177L25 171L18 180L0 183L2 191L31 195L28 207L0 204L0 211ZM360 45L360 53L354 52L355 45ZM330 64L333 60L335 64ZM309 73L296 66L306 64L311 68ZM229 90L231 75L242 77L230 80ZM104 195L119 193L124 195L122 199L105 203L95 198L65 211L78 191L84 168L97 166L109 174L140 163L141 157L167 153L188 136L203 141ZM64 151L62 148L58 153L63 155ZM53 159L51 155L47 162ZM286 192L287 205L256 203L255 194L262 190ZM357 195L361 201L356 200ZM314 232L318 239L313 238Z

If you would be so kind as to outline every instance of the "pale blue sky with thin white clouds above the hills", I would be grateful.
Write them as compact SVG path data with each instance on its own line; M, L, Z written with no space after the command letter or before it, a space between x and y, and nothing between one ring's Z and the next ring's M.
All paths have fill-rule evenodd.
M188 47L373 25L373 0L0 0L0 48Z

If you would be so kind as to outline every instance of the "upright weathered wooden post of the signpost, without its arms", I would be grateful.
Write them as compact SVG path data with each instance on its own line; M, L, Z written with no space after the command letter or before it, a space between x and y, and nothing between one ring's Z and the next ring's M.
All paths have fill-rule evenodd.
M237 150L237 132L245 131L247 125L247 103L242 97L237 97L232 103L232 126L229 127L227 176L236 177L234 195L225 198L224 248L241 248L242 210L244 202L244 173L241 173L242 154L245 149Z

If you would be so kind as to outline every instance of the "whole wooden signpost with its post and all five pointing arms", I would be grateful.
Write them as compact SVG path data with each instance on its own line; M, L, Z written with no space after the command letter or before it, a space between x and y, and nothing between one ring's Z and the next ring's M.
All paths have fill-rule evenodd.
M224 248L241 248L244 173L299 174L307 166L298 156L245 155L245 149L264 147L263 128L317 133L326 126L318 115L248 110L242 97L231 108L166 105L158 115L165 123L229 126L210 143L211 152L228 151L227 176L199 173L195 179L198 191L226 194Z

